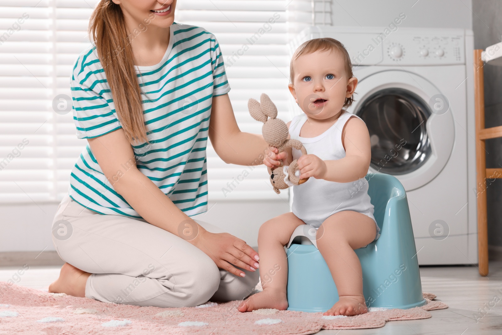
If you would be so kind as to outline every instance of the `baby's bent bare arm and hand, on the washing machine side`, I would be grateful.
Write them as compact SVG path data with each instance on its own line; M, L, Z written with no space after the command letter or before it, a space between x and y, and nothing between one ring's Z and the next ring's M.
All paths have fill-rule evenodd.
M303 155L298 159L300 178L314 177L339 183L348 183L363 178L371 161L369 132L364 122L350 118L342 130L345 157L323 161L315 155Z

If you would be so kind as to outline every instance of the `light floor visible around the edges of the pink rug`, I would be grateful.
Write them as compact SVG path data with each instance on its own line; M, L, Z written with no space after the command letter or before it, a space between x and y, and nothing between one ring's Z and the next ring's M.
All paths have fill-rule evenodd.
M59 275L59 267L0 267L0 281L12 279L19 285L47 289ZM382 328L322 330L320 335L350 334L502 334L502 262L490 262L488 277L480 277L474 266L420 267L422 289L437 295L449 308L432 310L423 320L390 321ZM479 312L484 310L484 316Z

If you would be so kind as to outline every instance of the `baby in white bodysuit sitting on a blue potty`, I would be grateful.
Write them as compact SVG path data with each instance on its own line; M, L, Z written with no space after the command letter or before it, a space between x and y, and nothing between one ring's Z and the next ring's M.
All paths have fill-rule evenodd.
M271 154L264 164L289 165L298 159L300 178L293 186L292 212L266 221L260 228L260 276L263 291L243 301L238 310L288 308L286 246L300 225L316 229L313 237L333 276L339 300L324 315L366 313L362 271L354 249L379 238L367 193L366 175L371 158L369 133L364 122L343 108L350 106L357 86L343 44L332 38L303 43L290 65L289 90L304 114L287 125L289 138L303 143L308 155L289 148Z

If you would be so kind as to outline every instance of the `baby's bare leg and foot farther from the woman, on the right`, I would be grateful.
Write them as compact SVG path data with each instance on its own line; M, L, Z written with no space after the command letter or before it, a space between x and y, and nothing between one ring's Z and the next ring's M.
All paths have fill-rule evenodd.
M317 231L317 248L328 264L339 300L324 315L367 312L362 294L362 270L354 249L365 247L376 236L372 218L352 210L329 216Z

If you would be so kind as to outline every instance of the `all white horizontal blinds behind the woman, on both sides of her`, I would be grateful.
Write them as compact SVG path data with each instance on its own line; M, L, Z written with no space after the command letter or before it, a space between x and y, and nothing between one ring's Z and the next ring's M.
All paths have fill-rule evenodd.
M69 76L89 43L88 18L97 2L0 0L1 203L55 202L68 190L70 171L87 143L75 136ZM247 99L259 99L262 92L276 103L279 118L291 119L287 4L285 0L178 2L175 22L204 27L218 39L235 118L244 132L261 133L262 124L249 116ZM271 18L278 19L268 23ZM242 52L244 44L248 49ZM70 104L68 113L61 111L65 103ZM58 113L53 104L59 104ZM207 156L210 200L278 197L265 166L226 164L210 145ZM280 196L287 199L288 192Z

